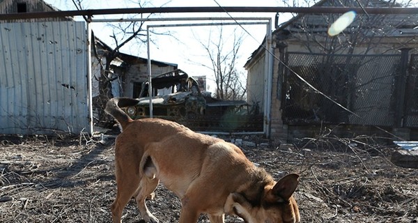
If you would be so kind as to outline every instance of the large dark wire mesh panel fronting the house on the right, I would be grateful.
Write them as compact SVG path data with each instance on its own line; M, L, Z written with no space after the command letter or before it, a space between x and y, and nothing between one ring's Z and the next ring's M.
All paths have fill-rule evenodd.
M394 123L392 95L400 55L288 52L286 59L285 123Z

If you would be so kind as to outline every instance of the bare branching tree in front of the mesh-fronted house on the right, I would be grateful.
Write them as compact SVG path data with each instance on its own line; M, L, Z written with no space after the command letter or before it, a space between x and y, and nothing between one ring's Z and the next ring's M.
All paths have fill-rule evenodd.
M326 4L327 2L322 1L321 3ZM380 4L380 7L401 6L396 0L342 0L338 3L343 6L361 8L366 6L378 7L376 4ZM369 72L367 78L358 76L357 72L360 69L367 66L371 67L375 64L373 60L381 59L378 56L366 57L364 55L371 54L371 52L373 54L376 54L376 52L378 54L394 54L401 48L410 46L410 43L416 40L415 36L398 35L400 30L408 28L403 26L404 24L410 24L408 22L408 20L411 20L410 16L369 15L366 12L357 15L354 22L339 35L329 36L327 34L328 26L339 16L333 14L303 15L296 17L297 20L293 22L292 29L282 32L283 37L292 36L299 43L302 43L303 47L311 53L305 56L309 56L309 59L315 61L309 63L308 66L303 66L302 61L307 59L298 57L300 63L291 66L292 69L305 81L309 82L311 86L315 86L321 94L332 99L324 100L318 91L302 83L297 84L297 87L288 86L288 93L293 93L293 99L291 100L297 99L294 103L291 102L292 106L298 107L302 111L301 114L309 112L309 110L320 109L319 116L322 117L319 118L327 118L328 121L334 123L347 122L350 115L348 109L359 114L366 114L367 112L382 110L382 107L388 106L388 100L358 103L362 98L373 97L374 95L371 92L384 92L383 89L391 86L392 82L389 82L389 78L395 72L387 72L386 75L382 72ZM392 41L390 44L387 42L389 39ZM396 48L394 48L395 45ZM386 64L392 64L392 62ZM396 70L398 68L393 66L391 69ZM373 69L369 68L369 70ZM379 84L376 84L377 82ZM299 78L295 78L293 83L301 82ZM286 95L287 98L289 98L288 95ZM295 111L292 110L288 114L294 115ZM317 115L318 111L315 111L314 114L307 114L307 116Z

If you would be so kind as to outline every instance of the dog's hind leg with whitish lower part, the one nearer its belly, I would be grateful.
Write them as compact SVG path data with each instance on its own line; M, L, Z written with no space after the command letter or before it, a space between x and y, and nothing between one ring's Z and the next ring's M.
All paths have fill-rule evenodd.
M150 213L145 203L146 198L155 190L155 188L157 188L158 183L160 183L160 180L158 180L157 178L148 178L146 176L143 176L141 179L141 183L139 183L139 188L137 190L136 197L137 206L145 222L160 222L159 220L157 220L157 217L154 217L154 215Z

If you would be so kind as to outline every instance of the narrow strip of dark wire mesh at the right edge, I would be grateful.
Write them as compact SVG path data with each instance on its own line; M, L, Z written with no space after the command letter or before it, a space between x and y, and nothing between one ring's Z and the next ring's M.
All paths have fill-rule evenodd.
M405 127L418 127L418 54L411 55L405 102Z

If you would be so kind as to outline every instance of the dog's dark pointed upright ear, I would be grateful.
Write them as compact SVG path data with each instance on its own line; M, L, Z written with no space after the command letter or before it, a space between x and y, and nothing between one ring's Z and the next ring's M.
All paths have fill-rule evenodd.
M298 183L299 175L288 174L284 176L268 192L266 200L271 203L288 201L295 192Z

